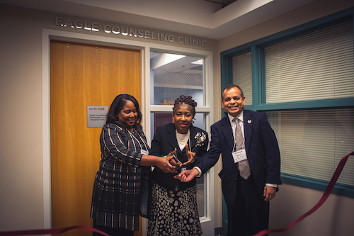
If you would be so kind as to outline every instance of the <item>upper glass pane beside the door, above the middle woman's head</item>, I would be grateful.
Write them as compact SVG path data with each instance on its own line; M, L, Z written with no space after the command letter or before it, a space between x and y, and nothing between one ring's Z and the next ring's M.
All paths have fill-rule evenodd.
M150 104L173 105L181 95L205 105L205 59L150 52Z

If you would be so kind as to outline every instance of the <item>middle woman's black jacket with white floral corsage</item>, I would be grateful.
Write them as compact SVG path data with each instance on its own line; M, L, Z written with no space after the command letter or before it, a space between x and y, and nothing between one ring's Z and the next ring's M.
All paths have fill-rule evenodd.
M207 145L209 143L209 137L207 132L204 130L190 125L190 150L195 152L195 162L188 164L187 169L192 169L195 164L199 162L200 157L202 157L207 152ZM169 152L177 149L177 158L182 162L187 162L188 157L185 153L185 148L180 150L177 139L176 139L176 128L173 123L167 125L161 125L156 129L154 139L152 140L152 148L149 154L155 156L164 156L169 154ZM160 186L164 186L170 191L175 190L175 187L179 186L180 190L188 189L195 185L195 179L188 183L182 183L178 179L173 178L176 174L164 173L158 167L154 168L152 177L154 182Z

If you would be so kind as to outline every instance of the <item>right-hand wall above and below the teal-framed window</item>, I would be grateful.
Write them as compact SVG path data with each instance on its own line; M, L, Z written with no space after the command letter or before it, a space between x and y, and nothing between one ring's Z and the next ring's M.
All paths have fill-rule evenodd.
M218 41L218 53L354 6L354 1L318 0ZM215 56L216 57L216 56ZM219 58L215 58L219 62ZM219 80L219 65L215 65ZM215 110L217 111L217 109ZM216 172L217 173L217 172ZM270 228L284 228L319 201L323 191L283 183L270 202ZM354 232L354 198L331 194L326 203L292 230L274 235L344 236Z

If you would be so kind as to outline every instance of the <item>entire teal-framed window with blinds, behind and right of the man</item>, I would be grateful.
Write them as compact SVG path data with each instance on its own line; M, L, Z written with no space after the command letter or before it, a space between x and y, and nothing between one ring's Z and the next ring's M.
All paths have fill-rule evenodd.
M324 190L354 151L353 16L349 9L221 53L222 74L232 71L223 84L241 86L245 109L267 113L287 183ZM354 197L354 157L333 192Z

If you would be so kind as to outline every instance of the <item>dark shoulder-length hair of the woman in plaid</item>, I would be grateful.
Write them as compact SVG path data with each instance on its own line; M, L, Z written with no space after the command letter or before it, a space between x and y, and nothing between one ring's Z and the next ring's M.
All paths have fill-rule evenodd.
M142 125L140 125L140 122L142 120L142 112L140 111L139 103L137 102L137 99L135 99L134 96L129 95L129 94L120 94L115 97L115 99L113 100L113 102L110 105L110 108L108 110L107 119L105 120L105 124L114 123L116 125L122 125L119 122L118 113L120 113L120 111L122 111L123 107L125 106L125 103L127 103L128 100L132 101L132 103L134 103L135 109L137 110L137 121L134 124L134 128L141 128L142 127Z

